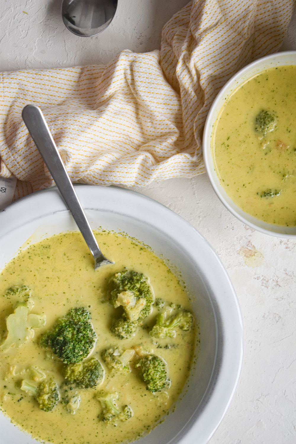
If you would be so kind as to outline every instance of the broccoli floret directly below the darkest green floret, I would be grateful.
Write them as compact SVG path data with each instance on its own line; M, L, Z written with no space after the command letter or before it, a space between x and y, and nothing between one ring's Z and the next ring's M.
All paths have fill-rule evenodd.
M89 389L96 387L104 377L104 369L98 359L69 364L63 368L63 376L75 387Z

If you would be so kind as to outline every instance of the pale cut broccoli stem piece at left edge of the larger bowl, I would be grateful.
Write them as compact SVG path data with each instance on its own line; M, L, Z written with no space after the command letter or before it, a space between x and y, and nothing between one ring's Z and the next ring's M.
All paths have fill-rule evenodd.
M43 327L46 322L44 315L33 314L29 312L33 307L30 298L26 302L18 302L12 314L6 319L7 337L0 345L0 350L5 352L9 347L20 345L32 339L34 329Z

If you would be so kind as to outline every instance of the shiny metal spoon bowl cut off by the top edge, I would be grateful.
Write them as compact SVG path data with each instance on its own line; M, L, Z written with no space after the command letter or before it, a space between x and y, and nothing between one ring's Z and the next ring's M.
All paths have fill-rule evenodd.
M76 36L95 36L111 23L116 8L117 0L63 0L63 22Z

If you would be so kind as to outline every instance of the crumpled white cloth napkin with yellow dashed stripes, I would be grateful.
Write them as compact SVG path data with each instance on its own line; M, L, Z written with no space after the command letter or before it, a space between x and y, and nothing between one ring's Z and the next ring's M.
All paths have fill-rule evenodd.
M47 120L73 182L143 186L202 173L213 99L241 67L276 52L294 0L197 0L172 17L159 51L123 51L106 66L2 73L0 175L15 198L51 186L21 119Z

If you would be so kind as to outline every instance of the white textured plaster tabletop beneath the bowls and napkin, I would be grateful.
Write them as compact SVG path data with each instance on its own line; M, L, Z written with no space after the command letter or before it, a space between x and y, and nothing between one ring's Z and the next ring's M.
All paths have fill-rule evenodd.
M1 71L104 63L122 49L159 48L163 24L187 0L119 0L112 24L90 39L67 31L60 3L0 0ZM296 50L296 14L284 49ZM205 236L226 267L241 305L241 379L210 444L295 444L296 242L243 225L218 200L205 174L153 183L140 191Z

